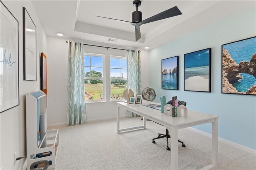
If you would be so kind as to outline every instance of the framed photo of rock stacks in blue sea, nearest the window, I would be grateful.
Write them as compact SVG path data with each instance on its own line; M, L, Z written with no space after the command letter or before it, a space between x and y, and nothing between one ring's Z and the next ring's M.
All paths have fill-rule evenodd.
M162 59L162 89L179 89L179 56Z

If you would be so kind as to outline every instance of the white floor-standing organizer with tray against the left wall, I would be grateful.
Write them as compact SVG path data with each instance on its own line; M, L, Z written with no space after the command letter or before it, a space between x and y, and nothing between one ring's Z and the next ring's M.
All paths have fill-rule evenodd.
M30 170L32 163L39 160L51 161L52 164L48 169L55 168L59 145L59 129L46 130L44 137L38 143L38 111L40 114L45 114L47 128L46 109L46 94L44 92L37 91L26 95L27 170ZM42 144L45 141L47 144L43 147ZM41 153L48 156L37 158L36 154ZM39 167L38 165L37 168Z

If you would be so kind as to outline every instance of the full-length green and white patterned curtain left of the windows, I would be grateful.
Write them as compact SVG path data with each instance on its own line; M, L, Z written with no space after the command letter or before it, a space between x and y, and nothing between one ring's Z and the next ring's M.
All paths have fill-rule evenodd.
M67 126L86 122L83 43L68 42Z

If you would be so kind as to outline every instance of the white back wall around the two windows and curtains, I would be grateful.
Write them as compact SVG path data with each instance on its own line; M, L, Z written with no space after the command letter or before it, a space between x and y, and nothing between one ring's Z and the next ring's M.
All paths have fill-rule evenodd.
M94 45L102 45L114 47L107 44L96 44L92 42L84 42ZM128 49L127 47L117 47ZM66 39L47 37L47 92L48 92L48 125L66 123L67 116L67 79L68 79L68 43ZM109 55L126 56L126 51L116 49L106 49L101 47L84 46L84 52L106 55L106 84L110 83L110 70L108 65L110 62ZM141 76L142 89L149 84L148 75L148 51L141 52ZM108 87L108 86L106 86ZM106 102L86 103L86 119L97 120L110 117L116 117L116 102L109 101L110 89L106 88ZM124 115L124 112L121 112Z

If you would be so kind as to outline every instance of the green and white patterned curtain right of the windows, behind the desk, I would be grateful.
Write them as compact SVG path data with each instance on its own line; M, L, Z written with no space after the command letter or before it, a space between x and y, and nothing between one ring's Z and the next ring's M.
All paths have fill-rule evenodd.
M127 88L132 89L134 95L140 93L140 50L131 49L126 52L127 56ZM137 117L136 113L127 111L127 117Z

